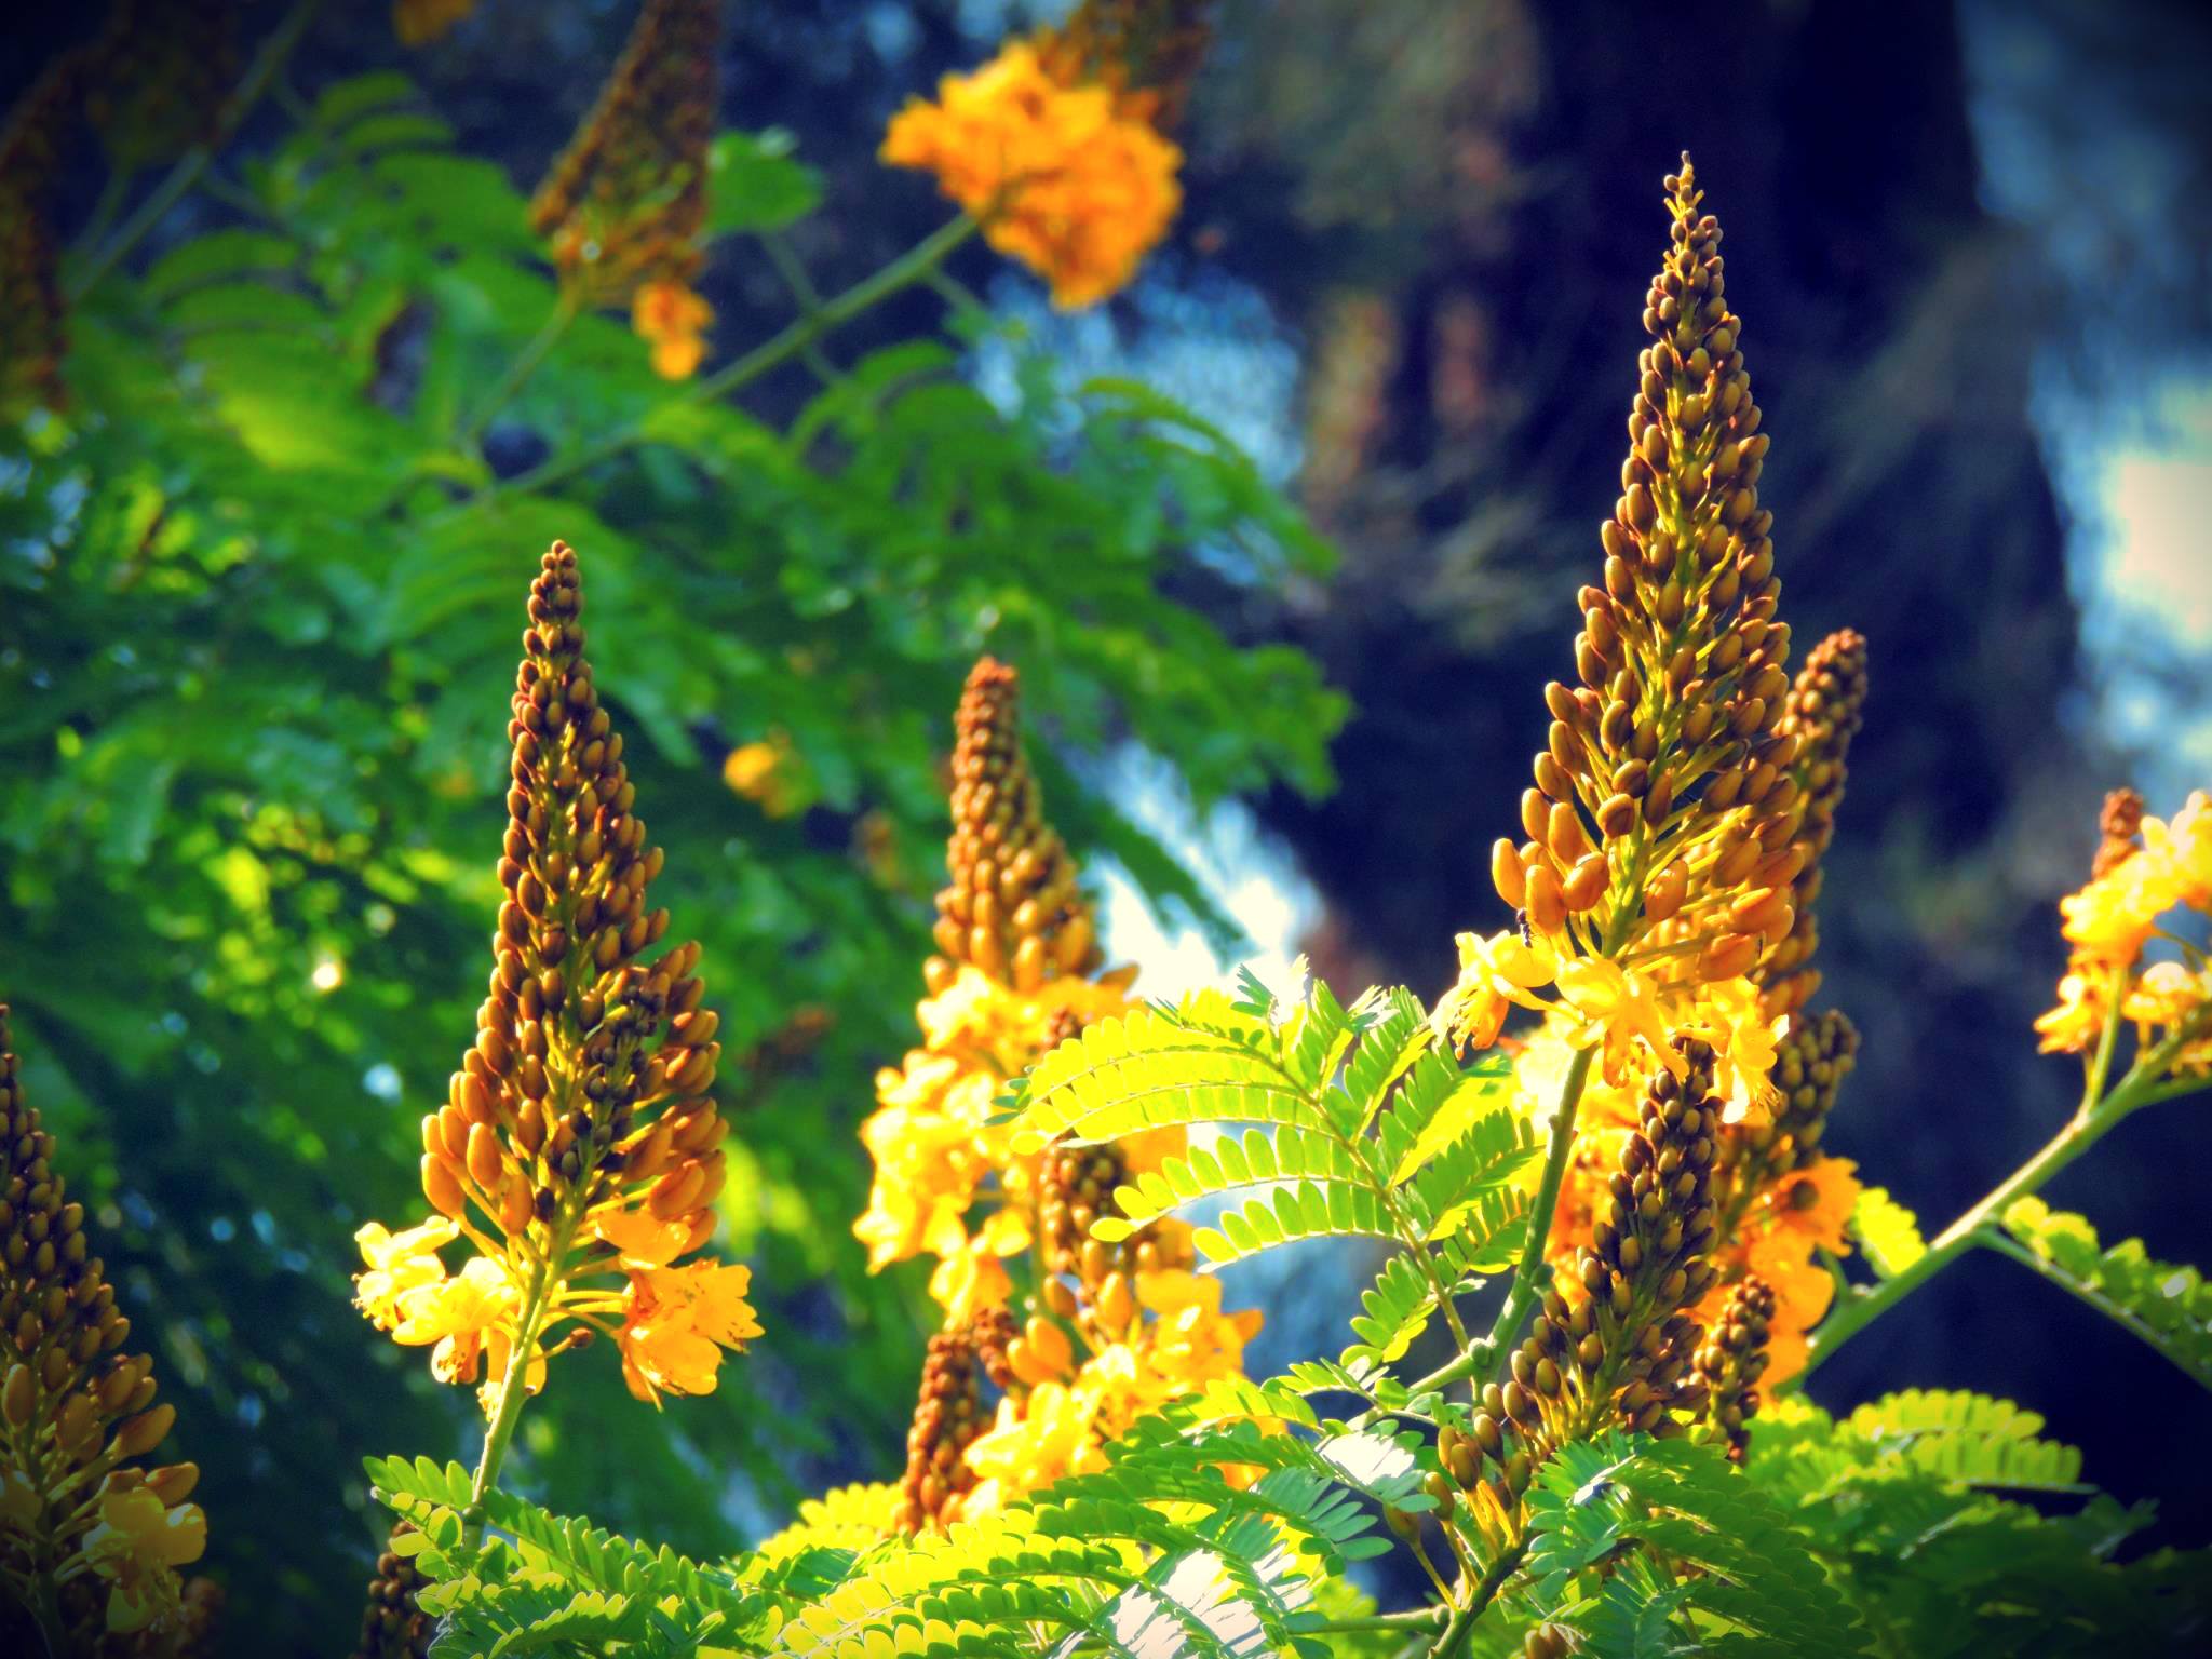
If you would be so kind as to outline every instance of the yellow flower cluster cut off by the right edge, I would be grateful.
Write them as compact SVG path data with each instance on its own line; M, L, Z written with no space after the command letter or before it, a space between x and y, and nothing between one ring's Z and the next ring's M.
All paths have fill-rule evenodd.
M2132 792L2115 794L2088 885L2059 900L2070 956L2057 1004L2035 1022L2044 1053L2095 1048L2117 1002L2143 1046L2197 1033L2174 1053L2174 1071L2212 1068L2212 964L2159 927L2183 907L2212 914L2212 796L2194 792L2163 823L2146 818ZM2172 940L2179 958L2146 964L2152 938Z

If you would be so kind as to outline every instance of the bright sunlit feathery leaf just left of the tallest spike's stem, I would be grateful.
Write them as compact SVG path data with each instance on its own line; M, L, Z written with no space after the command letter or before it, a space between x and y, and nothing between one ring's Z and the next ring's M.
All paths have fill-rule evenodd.
M1126 1239L1168 1210L1272 1188L1199 1228L1199 1252L1228 1263L1298 1239L1398 1245L1352 1321L1347 1365L1398 1358L1433 1314L1455 1321L1453 1298L1511 1263L1526 1214L1513 1177L1537 1150L1504 1068L1453 1064L1409 991L1369 991L1347 1009L1318 980L1287 1011L1248 975L1237 1000L1197 991L1104 1020L1029 1073L1013 1133L1044 1146L1159 1124L1223 1135L1124 1186L1124 1214L1093 1232ZM1237 1124L1267 1128L1237 1135Z

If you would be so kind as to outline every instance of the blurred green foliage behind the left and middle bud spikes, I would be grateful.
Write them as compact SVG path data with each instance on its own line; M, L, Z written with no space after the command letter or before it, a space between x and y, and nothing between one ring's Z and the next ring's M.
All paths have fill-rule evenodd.
M872 1460L902 1433L905 1385L880 1380L911 1374L918 1285L867 1279L845 1232L854 1079L909 1037L973 655L1022 668L1040 748L1141 743L1199 810L1325 787L1340 714L1307 661L1168 597L1199 544L1252 584L1327 557L1206 422L1057 389L1033 352L1000 407L958 338L880 330L825 336L830 378L792 363L754 411L659 380L595 314L500 400L557 314L511 181L403 75L303 91L290 128L263 111L270 139L217 161L190 234L88 290L69 409L0 451L0 995L73 1183L113 1217L230 1617L272 1650L356 1617L338 1564L365 1564L372 1517L330 1447L458 1449L476 1413L347 1307L349 1234L420 1206L416 1119L473 1029L504 703L553 538L586 564L657 894L706 947L748 1106L728 1245L783 1340L659 1418L580 1365L520 1471L692 1548L734 1542L732 1480L770 1506L812 1482L823 1425ZM783 135L726 135L714 161L717 230L821 201ZM770 734L785 816L717 776ZM1077 856L1232 936L1095 770L1040 761ZM836 1018L818 1048L774 1060L810 1011ZM757 1046L774 1064L748 1066ZM803 1318L776 1301L801 1296ZM823 1416L772 1447L754 1389L801 1376ZM296 1502L248 1500L272 1482Z

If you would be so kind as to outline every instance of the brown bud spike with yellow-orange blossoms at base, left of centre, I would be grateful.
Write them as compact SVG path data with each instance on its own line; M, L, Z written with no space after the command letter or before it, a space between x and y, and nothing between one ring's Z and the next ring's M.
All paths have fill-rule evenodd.
M358 1234L363 1312L398 1343L436 1343L447 1383L489 1360L487 1411L513 1365L535 1391L546 1360L595 1332L617 1338L646 1400L712 1389L721 1349L759 1334L743 1267L672 1265L712 1234L726 1179L728 1126L708 1093L719 1020L697 945L646 956L668 931L646 902L661 852L584 659L582 608L577 557L555 542L531 584L507 728L491 987L445 1106L422 1119L438 1217ZM480 1254L449 1279L438 1250L460 1234ZM608 1276L624 1287L593 1283Z

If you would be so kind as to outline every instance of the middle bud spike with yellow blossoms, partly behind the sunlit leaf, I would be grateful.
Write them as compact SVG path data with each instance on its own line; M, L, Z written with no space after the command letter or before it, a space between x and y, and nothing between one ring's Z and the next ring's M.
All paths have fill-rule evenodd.
M1239 1374L1261 1323L1225 1314L1221 1281L1192 1272L1190 1228L1091 1237L1117 1186L1183 1150L1181 1126L1018 1152L991 1121L1006 1084L1055 1044L1128 1011L1133 973L1097 967L1075 865L1020 748L1013 670L978 661L956 726L942 956L916 1006L922 1046L876 1079L860 1128L876 1179L854 1223L872 1267L936 1256L945 1332L909 1436L909 1526L1097 1469L1137 1416ZM1015 1327L1009 1261L1024 1254L1033 1296ZM978 1371L1002 1389L989 1425Z

